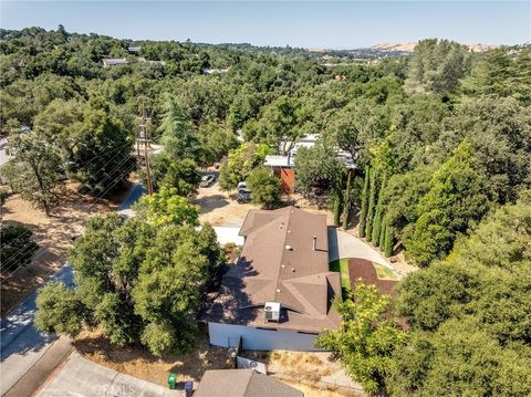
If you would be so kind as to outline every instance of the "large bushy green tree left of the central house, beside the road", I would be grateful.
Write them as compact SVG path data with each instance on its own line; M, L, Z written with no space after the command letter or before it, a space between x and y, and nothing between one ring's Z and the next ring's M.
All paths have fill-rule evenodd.
M75 289L43 288L35 322L42 331L74 336L97 326L115 344L139 342L156 355L186 351L219 260L208 224L196 231L118 215L93 218L70 253Z

